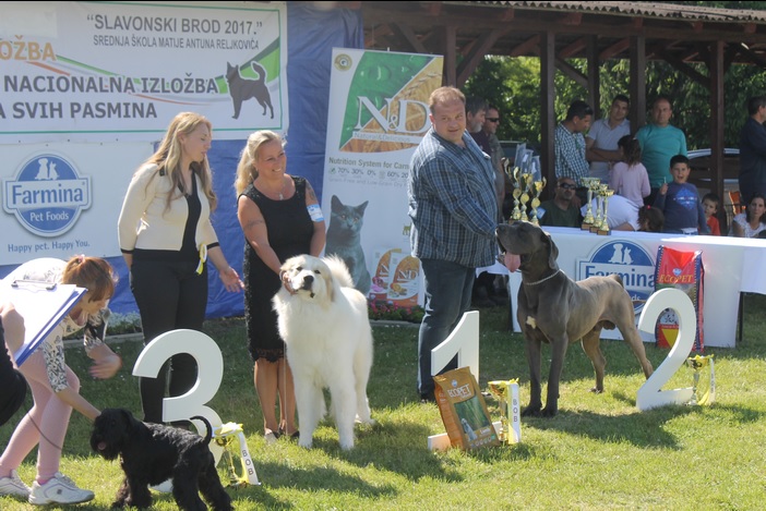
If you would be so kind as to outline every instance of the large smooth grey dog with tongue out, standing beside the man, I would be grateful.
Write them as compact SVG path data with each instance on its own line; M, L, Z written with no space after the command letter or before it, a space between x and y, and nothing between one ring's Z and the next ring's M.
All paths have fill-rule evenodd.
M607 363L599 346L602 328L620 329L633 349L644 375L651 375L644 343L635 326L630 294L617 275L590 277L579 282L559 269L559 248L551 236L529 222L498 226L498 242L505 253L505 266L522 270L518 290L518 324L527 341L529 363L529 405L522 415L553 416L559 410L559 379L571 342L583 340L583 350L596 372L595 392L603 391ZM551 344L548 400L542 409L540 388L541 343Z

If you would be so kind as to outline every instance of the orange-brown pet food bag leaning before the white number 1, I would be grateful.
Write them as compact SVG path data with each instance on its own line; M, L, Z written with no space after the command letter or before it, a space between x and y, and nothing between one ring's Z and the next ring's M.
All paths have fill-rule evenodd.
M500 445L484 397L468 367L434 376L433 381L439 412L453 447L468 450Z

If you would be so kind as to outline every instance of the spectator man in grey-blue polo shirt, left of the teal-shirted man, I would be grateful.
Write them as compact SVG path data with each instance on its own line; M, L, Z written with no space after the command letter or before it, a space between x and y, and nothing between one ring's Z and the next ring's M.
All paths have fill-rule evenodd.
M555 177L572 178L577 184L574 198L575 206L579 207L587 202L588 190L582 179L590 174L588 162L585 159L585 136L590 127L594 109L585 101L576 100L570 105L566 118L555 129L554 168Z

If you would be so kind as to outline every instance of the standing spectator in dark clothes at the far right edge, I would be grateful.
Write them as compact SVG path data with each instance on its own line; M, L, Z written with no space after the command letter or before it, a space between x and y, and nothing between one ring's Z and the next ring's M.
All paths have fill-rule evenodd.
M740 132L740 193L742 202L766 195L766 96L747 100L747 121Z

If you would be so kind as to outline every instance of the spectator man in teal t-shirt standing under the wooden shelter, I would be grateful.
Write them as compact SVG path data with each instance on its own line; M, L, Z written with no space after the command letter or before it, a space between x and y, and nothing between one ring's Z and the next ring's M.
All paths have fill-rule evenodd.
M670 124L672 115L670 99L660 96L651 106L653 122L636 133L636 139L641 144L641 159L649 174L651 187L649 195L644 197L644 204L654 204L660 186L673 180L669 172L670 158L675 155L686 156L686 135ZM666 214L666 222L667 217Z

